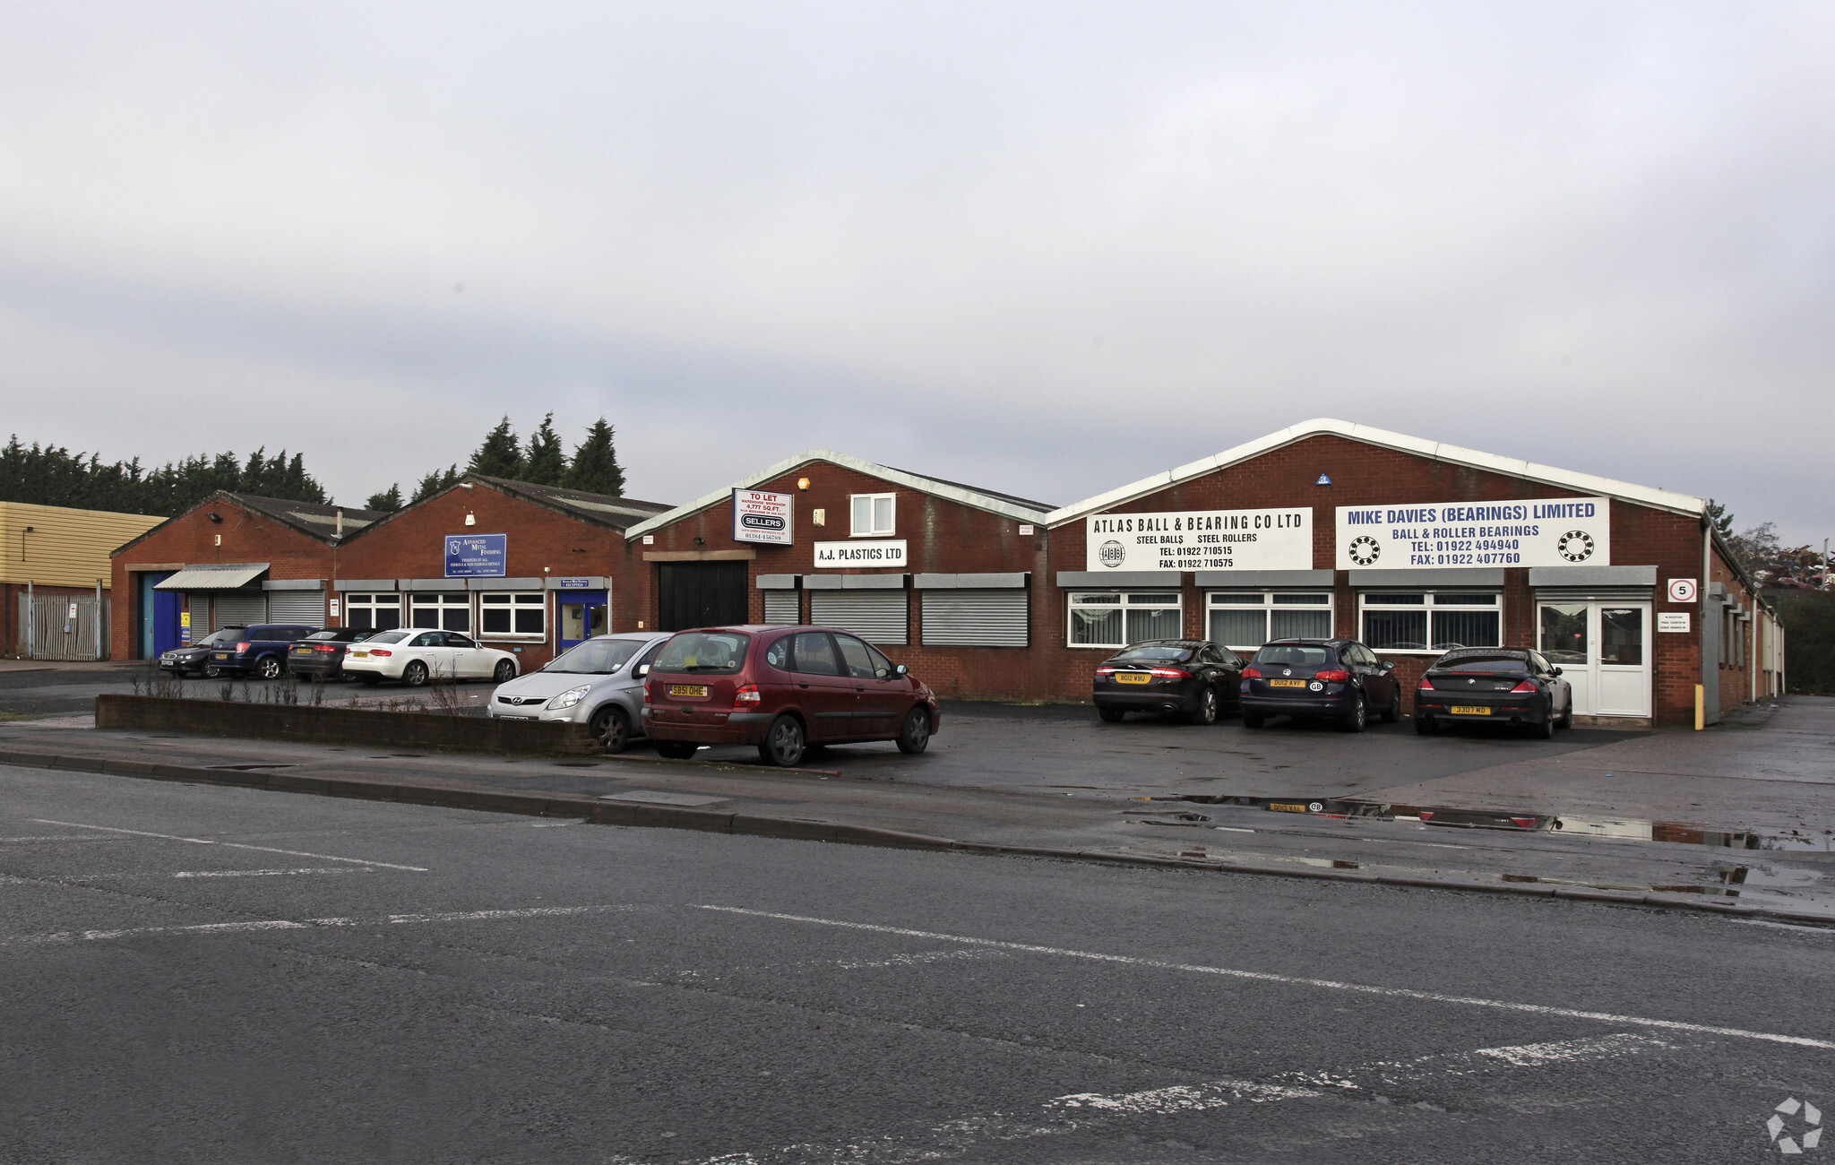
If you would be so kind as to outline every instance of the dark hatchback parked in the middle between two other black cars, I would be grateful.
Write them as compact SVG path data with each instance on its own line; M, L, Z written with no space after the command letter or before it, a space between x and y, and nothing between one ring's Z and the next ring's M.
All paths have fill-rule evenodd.
M1362 732L1373 714L1400 719L1402 684L1395 664L1354 638L1275 638L1242 670L1242 727L1261 728L1283 714Z

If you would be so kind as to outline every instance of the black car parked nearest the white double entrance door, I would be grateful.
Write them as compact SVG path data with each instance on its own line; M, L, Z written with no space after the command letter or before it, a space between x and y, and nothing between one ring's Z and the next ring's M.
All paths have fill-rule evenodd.
M1574 693L1540 651L1448 651L1415 686L1415 732L1428 736L1459 723L1518 725L1549 739L1556 728L1574 725Z

